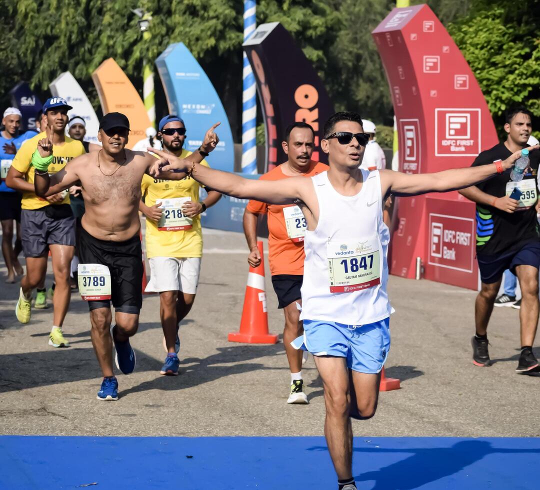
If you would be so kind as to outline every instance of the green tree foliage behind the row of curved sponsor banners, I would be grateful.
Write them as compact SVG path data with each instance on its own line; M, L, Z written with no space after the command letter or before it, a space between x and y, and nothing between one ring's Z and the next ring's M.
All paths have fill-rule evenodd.
M414 0L411 3L420 3ZM511 102L540 114L540 0L428 0L463 50L490 109ZM281 22L325 83L336 109L359 111L392 125L392 103L371 31L394 7L390 0L258 0L257 22ZM152 12L144 41L131 9ZM170 43L184 42L212 80L240 138L242 0L0 0L0 103L27 80L48 96L49 83L69 70L98 109L91 80L113 57L142 92L142 67ZM536 12L536 13L535 13ZM294 66L291 66L294 70ZM166 110L156 80L158 116Z

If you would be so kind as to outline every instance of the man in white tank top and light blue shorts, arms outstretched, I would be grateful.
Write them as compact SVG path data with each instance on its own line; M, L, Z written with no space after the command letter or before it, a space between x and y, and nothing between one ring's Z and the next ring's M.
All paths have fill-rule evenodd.
M212 189L271 204L296 202L307 220L302 286L303 344L323 381L325 435L340 490L356 488L352 476L350 417L375 414L381 369L390 348L387 247L382 204L390 193L416 196L462 189L510 169L521 153L491 165L407 175L359 169L368 135L354 112L338 112L324 128L328 172L311 178L248 180L167 153L150 171L167 179L184 173ZM532 148L537 148L531 147ZM180 173L170 173L177 171ZM298 340L298 339L297 339Z

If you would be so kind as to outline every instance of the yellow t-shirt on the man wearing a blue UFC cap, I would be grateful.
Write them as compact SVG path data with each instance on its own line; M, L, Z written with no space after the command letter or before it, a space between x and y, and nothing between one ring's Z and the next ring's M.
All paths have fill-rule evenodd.
M33 184L35 172L35 168L31 165L32 155L33 152L36 151L38 141L46 136L46 133L42 132L39 133L39 135L26 140L13 160L12 167L19 172L24 173L26 182L30 184ZM80 141L66 136L63 145L53 145L52 147L52 163L49 165L49 175L59 172L71 159L83 155L84 153L86 152ZM69 204L69 194L66 195L60 204ZM23 200L21 203L22 209L40 209L49 205L50 203L48 200L37 197L35 193L23 192Z

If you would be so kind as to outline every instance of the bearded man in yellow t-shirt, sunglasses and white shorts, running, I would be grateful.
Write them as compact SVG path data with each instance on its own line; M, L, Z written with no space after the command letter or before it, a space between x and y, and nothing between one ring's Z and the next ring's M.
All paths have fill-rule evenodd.
M178 116L165 116L158 130L157 137L166 152L180 158L191 154L182 149L186 128ZM209 166L205 160L201 165ZM199 202L199 186L194 179L158 180L148 175L141 184L145 202L141 200L139 211L146 216L146 253L150 261L146 291L159 292L167 351L161 374L178 374L179 323L195 300L203 255L200 213L221 197L219 192L208 191L208 197Z

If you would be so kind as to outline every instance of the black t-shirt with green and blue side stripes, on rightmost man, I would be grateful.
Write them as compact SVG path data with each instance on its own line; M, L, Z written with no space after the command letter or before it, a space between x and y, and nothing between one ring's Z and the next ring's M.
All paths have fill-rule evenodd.
M512 152L499 143L489 150L483 151L476 157L474 166L487 165L496 160L505 160ZM518 209L514 213L498 210L496 207L476 204L476 253L483 257L499 256L520 249L530 241L538 241L540 233L536 218L535 204L538 196L538 163L540 151L529 153L531 170L523 177L523 184L527 191L521 194L521 202L529 206ZM476 186L481 191L495 197L507 195L507 189L514 189L516 183L507 187L510 181L510 172L507 170ZM534 183L528 182L534 180Z

